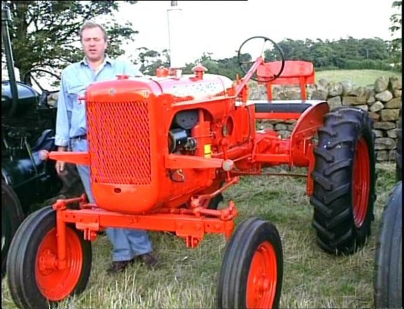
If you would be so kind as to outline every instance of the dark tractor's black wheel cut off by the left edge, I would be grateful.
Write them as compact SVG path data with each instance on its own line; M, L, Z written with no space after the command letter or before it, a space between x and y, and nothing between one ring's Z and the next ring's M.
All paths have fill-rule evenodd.
M24 219L17 194L4 181L1 183L1 274L6 273L8 249L19 225Z

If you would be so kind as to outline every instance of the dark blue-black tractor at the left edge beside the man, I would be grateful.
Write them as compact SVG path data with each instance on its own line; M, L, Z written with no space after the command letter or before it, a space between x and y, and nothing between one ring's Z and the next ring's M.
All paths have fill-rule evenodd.
M9 80L2 81L2 239L1 265L5 273L7 253L13 235L28 214L44 202L59 196L77 196L84 192L76 167L68 165L59 177L55 161L42 160L40 150L56 150L56 107L48 104L51 93L38 83L35 74L55 74L42 69L28 71L17 82L11 50L9 8L2 8L2 42ZM58 77L57 77L58 78ZM42 93L28 85L34 80Z

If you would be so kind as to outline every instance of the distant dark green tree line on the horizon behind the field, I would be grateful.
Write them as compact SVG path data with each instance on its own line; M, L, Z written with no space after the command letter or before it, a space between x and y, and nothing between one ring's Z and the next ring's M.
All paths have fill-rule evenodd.
M330 40L292 40L285 39L278 42L286 60L311 61L317 71L325 69L379 69L401 71L401 48L393 41L380 38L355 39L348 37L335 41ZM158 53L154 50L142 48L139 59L142 63L141 71L154 75L156 68L161 65L169 66L168 51ZM265 52L267 61L276 60L268 50ZM231 79L236 74L243 76L238 64L237 55L225 59L213 59L212 53L203 53L194 63L187 63L184 70L190 73L196 63L202 63L208 73L220 74Z

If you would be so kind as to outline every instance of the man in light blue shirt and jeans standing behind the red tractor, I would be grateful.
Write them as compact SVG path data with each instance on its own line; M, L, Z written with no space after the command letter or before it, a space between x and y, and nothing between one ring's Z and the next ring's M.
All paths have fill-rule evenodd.
M80 30L80 39L85 57L73 63L62 72L61 89L57 102L55 144L59 151L87 151L85 103L78 101L87 86L93 82L113 80L118 74L142 76L130 63L112 60L105 54L107 35L103 27L96 23L85 23ZM63 172L65 162L57 161L56 170ZM88 166L77 165L88 200L95 202L91 192L90 170ZM112 265L108 273L125 269L136 259L149 266L157 264L151 253L149 235L144 230L110 228L106 230L114 246Z

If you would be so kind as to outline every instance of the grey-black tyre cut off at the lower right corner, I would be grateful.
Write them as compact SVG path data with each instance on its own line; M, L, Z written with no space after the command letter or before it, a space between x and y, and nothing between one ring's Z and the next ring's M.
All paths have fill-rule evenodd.
M402 308L402 182L383 211L375 263L376 308Z

